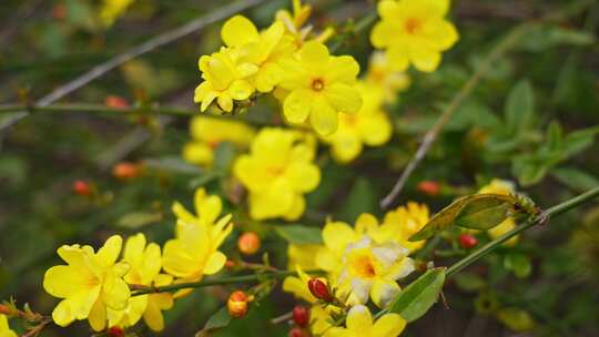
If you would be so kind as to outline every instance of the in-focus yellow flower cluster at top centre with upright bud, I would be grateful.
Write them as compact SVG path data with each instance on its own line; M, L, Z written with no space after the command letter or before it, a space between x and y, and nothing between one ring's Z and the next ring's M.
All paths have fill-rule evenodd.
M278 12L263 31L242 16L226 21L224 47L200 58L203 82L194 101L201 110L216 101L222 111L232 112L234 102L255 92L276 92L290 123L309 121L318 134L335 132L339 112L355 113L362 106L354 85L359 65L352 57L331 55L324 37L309 39L309 28L302 29L308 16L309 7L295 1L293 16Z

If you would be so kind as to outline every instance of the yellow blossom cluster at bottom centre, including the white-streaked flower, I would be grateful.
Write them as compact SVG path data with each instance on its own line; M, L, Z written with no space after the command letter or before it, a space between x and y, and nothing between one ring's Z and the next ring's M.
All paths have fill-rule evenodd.
M325 270L327 277L322 280L329 282L331 287L337 292L335 295L345 298L347 305L359 308L356 310L359 310L359 317L364 319L363 327L368 326L366 330L375 329L377 324L388 328L384 321L392 319L394 326L400 326L398 331L389 330L388 334L392 335L386 335L383 327L376 329L382 329L380 336L397 336L403 329L399 324L403 319L395 321L396 318L380 318L373 325L372 317L366 319L369 312L366 313L363 308L368 299L378 307L385 307L399 292L397 280L409 275L415 268L414 261L408 255L424 244L409 243L407 239L427 222L428 207L412 202L388 212L383 223L368 213L362 214L353 227L343 222L329 221L322 232L323 245L290 245L290 267L297 268L298 276L285 278L283 289L313 304L311 327L314 334L327 330L333 335L327 333L324 336L354 336L352 334L358 330L352 324L343 329L331 329L329 312L336 308L329 306L323 309L316 305L317 300L307 287L309 276L304 269Z

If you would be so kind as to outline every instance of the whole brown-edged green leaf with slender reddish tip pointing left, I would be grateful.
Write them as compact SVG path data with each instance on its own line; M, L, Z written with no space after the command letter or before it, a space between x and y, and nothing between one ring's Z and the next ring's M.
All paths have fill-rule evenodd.
M497 223L497 221L507 214L507 211L504 210L501 205L504 203L509 205L516 202L517 198L511 195L475 194L463 196L435 214L428 223L418 233L409 237L408 241L416 242L429 238L436 233L439 233L454 224L458 224L456 223L458 218L459 225L463 227L478 229L491 228L498 225L500 222ZM466 212L464 212L464 210L466 210Z

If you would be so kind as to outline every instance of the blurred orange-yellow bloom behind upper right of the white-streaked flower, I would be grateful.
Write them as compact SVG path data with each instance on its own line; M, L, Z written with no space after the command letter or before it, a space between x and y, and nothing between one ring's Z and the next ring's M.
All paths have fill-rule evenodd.
M409 242L408 238L418 233L428 219L428 207L425 204L408 202L406 206L399 206L385 214L379 231L413 253L422 248L426 241Z

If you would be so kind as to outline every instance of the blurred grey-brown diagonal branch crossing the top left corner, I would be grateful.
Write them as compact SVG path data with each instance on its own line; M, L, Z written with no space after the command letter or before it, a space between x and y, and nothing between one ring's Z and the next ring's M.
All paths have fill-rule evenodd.
M63 96L68 95L69 93L84 86L85 84L90 83L91 81L102 76L106 72L118 68L119 65L125 63L126 61L130 61L134 58L138 58L146 52L150 52L156 48L163 47L165 44L169 44L173 41L176 41L181 38L184 38L193 32L199 31L200 29L204 28L207 24L211 24L213 22L216 22L219 20L222 20L224 18L231 17L234 13L237 13L240 11L246 10L248 8L252 8L254 6L257 6L260 3L264 2L264 0L240 0L235 1L226 7L223 7L219 10L213 11L212 13L197 18L193 21L190 21L179 28L175 28L173 30L170 30L167 32L164 32L158 37L154 37L136 47L131 48L130 50L125 51L122 54L116 55L113 59L110 59L101 64L95 65L94 68L90 69L88 72L81 74L77 79L68 82L64 85L61 85L57 88L51 93L47 94L45 96L41 98L35 105L37 106L45 106L49 105ZM14 114L12 118L7 119L3 123L0 124L0 130L3 130L6 127L9 127L13 125L14 123L19 122L21 119L29 115L29 112L27 110L20 111L19 113Z

